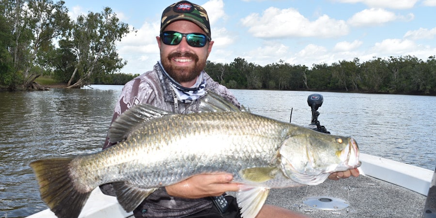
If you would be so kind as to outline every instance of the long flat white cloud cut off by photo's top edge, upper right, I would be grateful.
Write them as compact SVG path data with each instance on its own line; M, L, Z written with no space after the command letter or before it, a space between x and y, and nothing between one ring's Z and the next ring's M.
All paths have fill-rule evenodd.
M336 0L342 3L363 3L371 8L410 9L418 0ZM428 0L434 1L434 0Z

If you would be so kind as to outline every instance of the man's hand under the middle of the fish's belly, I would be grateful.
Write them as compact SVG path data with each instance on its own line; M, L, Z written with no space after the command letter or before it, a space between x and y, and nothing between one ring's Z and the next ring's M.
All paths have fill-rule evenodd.
M237 183L230 183L233 175L221 174L199 174L187 180L165 187L168 194L181 198L204 198L209 196L220 196L226 191L238 191Z

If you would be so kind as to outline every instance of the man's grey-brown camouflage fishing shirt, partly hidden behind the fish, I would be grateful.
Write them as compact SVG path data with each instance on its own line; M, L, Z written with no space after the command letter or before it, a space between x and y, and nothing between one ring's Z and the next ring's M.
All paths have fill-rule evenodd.
M211 91L219 94L235 106L240 107L234 95L218 82L210 78L205 72L206 92ZM127 82L115 105L112 122L125 110L134 105L146 103L160 109L174 112L174 97L170 82L162 73L159 64L156 64L152 71L148 71L137 78ZM191 103L178 102L178 113L196 112L198 109L197 101ZM112 146L106 140L103 149ZM110 184L100 186L103 193L115 196L115 192ZM184 217L203 209L210 208L213 203L210 198L184 199L168 195L164 187L157 189L148 196L140 206L135 209L135 217L147 218L178 218Z

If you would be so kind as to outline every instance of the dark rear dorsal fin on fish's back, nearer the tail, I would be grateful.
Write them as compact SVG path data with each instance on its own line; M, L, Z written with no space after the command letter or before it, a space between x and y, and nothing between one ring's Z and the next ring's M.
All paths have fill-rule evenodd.
M174 114L158 109L148 104L135 105L122 113L110 126L108 132L109 142L118 142L127 139L127 136L144 121Z

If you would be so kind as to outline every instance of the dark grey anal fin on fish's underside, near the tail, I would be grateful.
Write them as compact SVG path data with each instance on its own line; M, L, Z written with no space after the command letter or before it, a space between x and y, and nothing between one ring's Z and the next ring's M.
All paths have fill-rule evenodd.
M117 200L127 212L137 208L146 197L156 191L157 188L141 189L126 182L112 183L117 195Z

